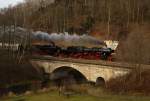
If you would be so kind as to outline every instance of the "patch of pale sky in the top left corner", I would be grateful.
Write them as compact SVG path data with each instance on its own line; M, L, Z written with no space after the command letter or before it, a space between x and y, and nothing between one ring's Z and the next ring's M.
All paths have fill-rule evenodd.
M0 0L0 8L6 8L9 5L16 5L19 2L23 2L24 0Z

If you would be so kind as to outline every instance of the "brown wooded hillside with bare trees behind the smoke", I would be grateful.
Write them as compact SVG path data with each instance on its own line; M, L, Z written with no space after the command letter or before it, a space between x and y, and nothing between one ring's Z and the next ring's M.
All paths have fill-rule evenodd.
M2 10L5 13L0 15L0 22L15 21L18 26L48 33L90 34L119 40L137 24L149 26L149 4L149 0L26 0L25 4Z

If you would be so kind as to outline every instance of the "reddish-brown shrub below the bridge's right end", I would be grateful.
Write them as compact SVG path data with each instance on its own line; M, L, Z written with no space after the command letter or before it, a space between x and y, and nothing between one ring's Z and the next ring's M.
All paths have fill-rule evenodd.
M150 93L150 71L133 70L128 75L111 79L107 89L117 93Z

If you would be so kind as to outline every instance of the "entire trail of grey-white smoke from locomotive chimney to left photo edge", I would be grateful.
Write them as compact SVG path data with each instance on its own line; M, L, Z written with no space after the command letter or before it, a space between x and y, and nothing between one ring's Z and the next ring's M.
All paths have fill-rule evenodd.
M21 27L16 27L14 29L13 26L11 27L6 27L5 28L5 37L9 37L10 35L10 28L12 31L13 37L15 37L15 41L17 43L21 43L22 40L26 40L26 37L29 34L29 31L25 28ZM15 33L14 33L15 32ZM0 27L0 39L3 36L3 28ZM67 46L86 46L86 47L103 47L105 46L104 41L98 40L95 37L92 37L87 34L83 35L77 35L77 34L72 34L70 35L69 33L46 33L42 31L36 31L36 32L30 32L30 37L32 37L33 40L38 40L38 41L53 41L56 45L67 47Z

